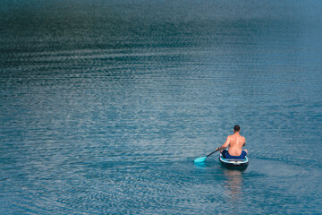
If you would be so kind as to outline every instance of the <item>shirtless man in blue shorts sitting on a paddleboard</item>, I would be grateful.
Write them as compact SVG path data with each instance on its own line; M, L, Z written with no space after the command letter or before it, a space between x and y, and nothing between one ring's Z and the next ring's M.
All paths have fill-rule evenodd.
M235 125L233 127L233 135L227 137L226 142L216 150L221 150L225 159L243 159L247 155L247 150L242 150L246 144L246 139L240 135L241 127ZM228 150L225 150L229 146Z

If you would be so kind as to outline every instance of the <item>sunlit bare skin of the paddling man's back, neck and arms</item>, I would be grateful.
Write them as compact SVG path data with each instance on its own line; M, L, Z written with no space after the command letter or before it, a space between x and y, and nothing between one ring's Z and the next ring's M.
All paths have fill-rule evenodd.
M228 153L231 156L240 156L242 154L242 147L246 144L246 139L240 135L241 130L233 131L233 135L229 135L226 142L218 147L217 150L225 150L229 146ZM245 150L248 153L247 150Z

